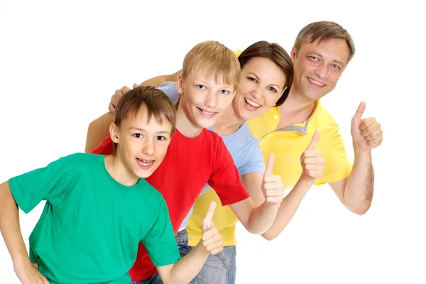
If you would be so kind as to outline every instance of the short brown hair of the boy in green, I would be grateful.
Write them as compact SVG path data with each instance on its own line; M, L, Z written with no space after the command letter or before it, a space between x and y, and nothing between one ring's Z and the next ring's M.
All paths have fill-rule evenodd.
M152 86L139 86L131 89L121 97L115 111L114 124L117 127L125 119L136 116L141 106L145 104L148 109L148 122L154 117L159 124L168 121L171 126L171 135L176 131L176 112L170 98L160 89ZM116 154L117 143L114 143L112 153Z

